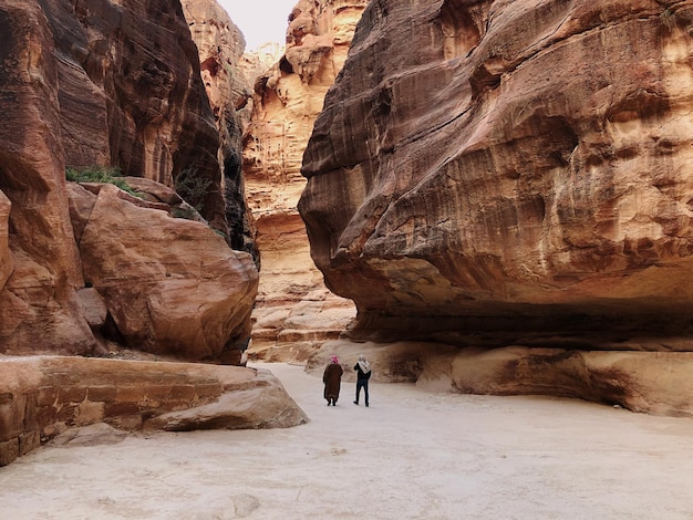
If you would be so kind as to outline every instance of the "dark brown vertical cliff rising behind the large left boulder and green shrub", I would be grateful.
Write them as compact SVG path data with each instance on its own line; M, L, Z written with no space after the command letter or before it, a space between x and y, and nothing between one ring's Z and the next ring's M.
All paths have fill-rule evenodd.
M226 231L219 146L179 2L41 2L55 42L62 141L75 168L111 165L167 186ZM201 193L204 191L204 193Z

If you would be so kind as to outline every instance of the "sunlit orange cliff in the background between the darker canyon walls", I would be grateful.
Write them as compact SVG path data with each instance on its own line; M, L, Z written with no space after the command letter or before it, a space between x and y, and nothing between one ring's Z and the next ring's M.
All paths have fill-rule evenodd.
M366 3L299 1L289 17L283 55L255 83L244 170L261 251L252 340L252 351L260 356L281 358L283 352L304 357L317 342L339 335L355 314L351 301L324 289L297 202L306 186L300 166L313 122ZM308 315L311 323L306 322Z

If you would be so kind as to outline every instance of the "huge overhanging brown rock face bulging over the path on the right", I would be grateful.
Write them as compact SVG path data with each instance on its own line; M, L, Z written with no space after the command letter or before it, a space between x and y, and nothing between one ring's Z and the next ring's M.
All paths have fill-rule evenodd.
M691 1L372 1L299 204L356 329L687 335L692 20Z

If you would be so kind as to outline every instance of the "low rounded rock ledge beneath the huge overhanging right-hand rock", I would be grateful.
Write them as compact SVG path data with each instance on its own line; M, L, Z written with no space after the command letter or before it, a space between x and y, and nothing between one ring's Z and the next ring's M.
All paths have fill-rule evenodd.
M459 349L420 342L328 342L307 370L320 373L337 354L344 381L363 354L372 381L416 382L431 392L555 395L623 406L633 412L693 416L693 353L577 351L566 349Z

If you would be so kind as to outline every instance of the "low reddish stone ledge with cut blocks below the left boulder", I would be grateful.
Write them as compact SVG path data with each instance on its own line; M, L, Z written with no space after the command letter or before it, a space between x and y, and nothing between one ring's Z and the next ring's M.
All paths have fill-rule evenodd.
M121 430L190 430L285 428L307 420L268 371L81 357L0 358L0 466L69 428L93 424ZM101 431L92 444L104 441ZM113 441L117 434L108 431ZM66 437L63 443L74 436Z

